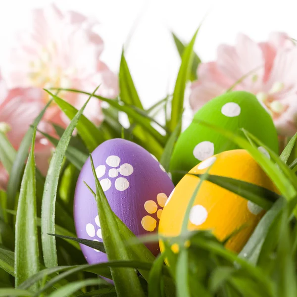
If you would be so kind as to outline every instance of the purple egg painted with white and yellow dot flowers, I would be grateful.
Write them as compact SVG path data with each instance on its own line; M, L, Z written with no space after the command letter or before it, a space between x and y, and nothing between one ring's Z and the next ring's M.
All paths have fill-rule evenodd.
M157 231L166 199L174 185L158 160L146 149L124 139L105 141L92 152L96 174L113 212L137 236ZM78 238L102 242L97 202L85 181L96 191L90 158L77 180L74 219ZM107 260L106 254L81 245L89 263ZM158 244L148 248L159 252Z

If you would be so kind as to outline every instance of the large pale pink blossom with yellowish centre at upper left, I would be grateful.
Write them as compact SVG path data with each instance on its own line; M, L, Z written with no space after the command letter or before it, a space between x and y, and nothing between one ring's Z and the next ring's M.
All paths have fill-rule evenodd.
M55 5L33 10L32 27L21 32L2 74L9 88L73 88L92 93L100 85L98 95L118 95L117 76L100 61L103 42L94 32L96 22L84 15L62 13ZM54 91L53 91L54 92ZM59 96L76 108L82 107L85 95L60 92ZM43 100L49 100L46 92ZM102 121L100 101L91 99L84 114L99 125ZM53 104L45 118L65 127L69 120Z

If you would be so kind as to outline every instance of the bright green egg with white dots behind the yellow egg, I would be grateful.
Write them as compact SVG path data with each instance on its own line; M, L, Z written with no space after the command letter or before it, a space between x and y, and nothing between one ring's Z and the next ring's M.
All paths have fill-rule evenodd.
M276 128L271 116L256 97L243 91L226 93L203 105L177 140L170 163L175 185L198 162L222 151L239 148L198 121L220 126L241 136L244 134L240 129L245 128L265 146L278 153Z

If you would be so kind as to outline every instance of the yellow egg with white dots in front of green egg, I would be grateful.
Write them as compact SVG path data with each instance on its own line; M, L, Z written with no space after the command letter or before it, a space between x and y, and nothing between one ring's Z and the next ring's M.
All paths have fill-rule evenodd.
M265 155L269 157L269 154ZM244 149L211 156L189 173L202 174L210 166L209 174L234 178L278 192L262 168ZM174 237L181 233L186 209L199 180L197 176L187 174L177 184L163 209L159 224L160 235ZM203 181L191 206L188 230L212 230L219 240L225 240L240 230L226 244L228 249L239 252L264 213L261 207L251 201L209 181ZM161 242L160 247L162 250Z

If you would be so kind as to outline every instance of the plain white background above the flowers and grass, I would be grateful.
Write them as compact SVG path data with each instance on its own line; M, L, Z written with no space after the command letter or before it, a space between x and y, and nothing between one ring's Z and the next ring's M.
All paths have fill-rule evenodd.
M29 11L50 0L0 0L0 60L3 45L27 25ZM102 60L118 71L122 45L145 107L172 92L180 59L170 31L188 42L205 17L195 50L202 61L215 59L220 43L234 44L243 32L256 41L271 31L297 38L295 0L56 0L62 10L95 16L105 42ZM133 28L133 30L132 30ZM1 65L0 65L1 68Z

